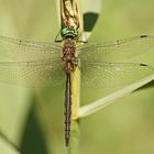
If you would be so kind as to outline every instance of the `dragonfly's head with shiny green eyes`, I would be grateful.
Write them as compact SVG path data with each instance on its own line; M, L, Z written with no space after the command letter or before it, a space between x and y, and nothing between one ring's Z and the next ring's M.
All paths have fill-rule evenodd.
M78 30L73 25L68 25L68 26L62 28L61 35L64 38L68 38L68 37L75 38L78 36Z

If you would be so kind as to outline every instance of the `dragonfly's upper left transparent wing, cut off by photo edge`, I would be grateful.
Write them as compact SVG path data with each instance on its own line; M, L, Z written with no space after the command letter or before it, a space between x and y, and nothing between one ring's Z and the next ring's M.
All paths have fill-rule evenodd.
M0 36L0 55L15 61L54 59L61 56L61 47L54 44Z

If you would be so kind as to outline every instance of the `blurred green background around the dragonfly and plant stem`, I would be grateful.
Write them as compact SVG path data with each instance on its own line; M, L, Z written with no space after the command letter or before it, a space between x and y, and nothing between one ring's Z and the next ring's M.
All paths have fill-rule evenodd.
M0 0L0 35L53 43L59 31L56 2ZM153 6L153 0L101 0L101 14L89 42L154 34ZM153 56L147 55L144 61L154 64ZM80 120L79 153L154 153L151 85ZM15 154L13 143L22 154L65 154L63 95L64 85L34 90L0 84L0 132L6 135L0 138L0 153ZM81 103L92 99L82 96Z

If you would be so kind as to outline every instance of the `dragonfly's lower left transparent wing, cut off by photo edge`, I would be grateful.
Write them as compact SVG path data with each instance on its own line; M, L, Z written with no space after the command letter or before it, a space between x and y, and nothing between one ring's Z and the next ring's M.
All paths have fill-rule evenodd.
M51 87L65 79L61 61L1 62L0 81L28 87Z

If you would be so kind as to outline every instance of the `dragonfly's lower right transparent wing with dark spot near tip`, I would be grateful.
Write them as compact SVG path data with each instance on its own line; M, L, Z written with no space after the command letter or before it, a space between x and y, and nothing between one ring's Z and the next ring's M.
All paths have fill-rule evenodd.
M81 62L81 85L114 88L133 84L154 74L154 68L135 63Z

